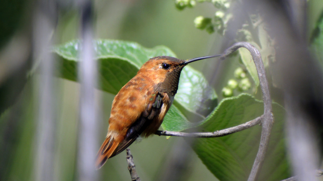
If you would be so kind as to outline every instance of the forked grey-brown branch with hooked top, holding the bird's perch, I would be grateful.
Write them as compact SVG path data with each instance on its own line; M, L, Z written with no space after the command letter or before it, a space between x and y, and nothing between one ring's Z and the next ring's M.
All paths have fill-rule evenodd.
M256 124L259 124L259 122L261 121L262 131L261 131L259 149L254 161L254 165L251 169L251 172L248 178L248 181L254 181L257 179L257 176L259 175L260 169L262 167L262 164L266 156L270 133L274 124L274 116L272 113L269 84L266 78L265 67L262 62L260 52L252 44L248 42L238 42L238 43L234 43L230 48L226 49L224 53L221 55L220 60L224 60L231 53L233 53L234 51L242 47L249 50L256 66L256 70L259 78L259 84L263 95L264 114L252 121L246 122L245 124L241 124L232 128L222 129L220 131L215 131L211 133L210 132L209 133L183 133L183 132L174 132L174 131L156 131L155 134L159 136L161 135L162 136L182 136L182 137L196 137L196 138L221 137L221 136L229 135L229 134L250 128Z

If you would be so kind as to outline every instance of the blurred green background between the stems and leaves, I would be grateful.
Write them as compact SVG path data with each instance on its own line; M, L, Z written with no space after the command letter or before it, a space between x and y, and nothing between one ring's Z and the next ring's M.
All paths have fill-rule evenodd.
M53 30L54 44L62 44L80 36L79 12L74 5L70 5L72 2L65 3L66 9L59 12L56 28ZM0 17L0 85L3 88L0 90L0 96L2 105L10 105L0 117L0 180L34 180L38 87L42 86L39 85L41 75L36 74L26 80L20 80L15 79L13 74L18 76L19 73L28 72L31 59L35 60L37 57L26 56L28 58L21 61L21 66L16 68L11 68L12 65L7 62L9 59L6 59L8 44L15 43L21 36L32 46L30 38L34 5L34 1L23 0L5 0L0 3L0 12L3 12ZM217 33L208 34L196 29L193 24L196 16L213 16L216 9L208 3L199 3L195 8L183 11L176 9L173 0L95 0L93 5L95 38L133 41L148 48L165 45L180 59L221 52L222 37ZM309 30L314 29L322 7L321 0L310 1ZM223 74L216 78L212 77L214 72L209 69L215 64L216 62L204 61L192 63L192 66L202 71L209 81L216 85L214 88L221 100L221 90L230 76L232 77L233 70L239 66L239 62L224 62L226 65L223 65ZM6 71L9 73L5 73ZM9 81L6 78L10 78ZM53 170L55 180L76 180L79 84L60 78L54 78L54 84L54 112L57 120ZM100 142L107 133L113 98L112 94L96 91L96 110L100 115ZM129 148L141 180L162 178L161 174L167 167L169 155L175 151L174 146L179 145L182 140L183 138L177 137L166 139L152 136L132 144ZM189 146L183 147L190 151L187 167L183 168L186 174L182 175L180 180L217 180ZM130 180L125 152L109 159L98 172L101 180Z

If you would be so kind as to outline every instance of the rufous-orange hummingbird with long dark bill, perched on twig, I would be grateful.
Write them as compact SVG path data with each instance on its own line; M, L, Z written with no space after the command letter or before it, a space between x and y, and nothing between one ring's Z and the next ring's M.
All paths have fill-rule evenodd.
M220 55L186 61L158 56L145 62L112 101L108 134L97 153L96 169L129 147L140 135L147 138L158 130L174 101L185 65L217 56Z

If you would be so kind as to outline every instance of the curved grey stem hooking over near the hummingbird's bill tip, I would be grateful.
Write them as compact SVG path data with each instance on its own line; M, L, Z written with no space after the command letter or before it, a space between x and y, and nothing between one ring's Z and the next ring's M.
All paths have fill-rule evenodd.
M255 62L255 66L257 69L258 78L260 82L260 87L263 94L263 100L264 100L264 114L261 116L262 131L261 131L259 149L254 161L254 165L251 169L251 172L248 178L248 181L253 181L257 179L257 176L259 175L261 166L266 156L270 133L274 123L274 116L272 114L271 97L269 93L269 86L266 78L265 67L262 62L260 52L250 43L238 42L238 43L234 43L234 45L226 49L223 55L220 57L220 59L222 60L225 59L225 57L227 57L232 52L236 51L238 48L241 48L241 47L244 47L249 50L249 52L251 53L252 59Z

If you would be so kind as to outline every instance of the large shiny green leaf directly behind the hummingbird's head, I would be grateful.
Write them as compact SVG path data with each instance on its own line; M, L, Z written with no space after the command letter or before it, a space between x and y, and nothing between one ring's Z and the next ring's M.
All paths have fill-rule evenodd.
M112 94L117 94L150 58L161 55L176 57L165 46L149 49L138 43L117 40L96 40L93 41L93 47L96 52L95 59L99 64L98 88ZM78 40L53 48L53 52L62 58L57 76L72 81L78 80L77 63L80 48L81 42ZM174 105L162 124L163 129L180 131L194 126L187 117L195 115L194 118L203 119L201 114L210 113L216 101L215 91L208 86L203 75L186 66L181 73Z

